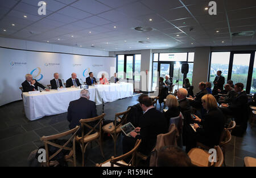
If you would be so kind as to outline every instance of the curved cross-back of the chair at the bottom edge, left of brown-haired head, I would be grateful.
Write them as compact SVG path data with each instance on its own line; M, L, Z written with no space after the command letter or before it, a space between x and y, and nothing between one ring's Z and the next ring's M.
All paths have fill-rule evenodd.
M123 154L121 156L110 159L111 167L113 167L114 164L117 165L117 166L122 166L122 167L135 166L135 159L136 159L136 154L137 154L137 150L139 148L139 145L141 145L141 139L137 139L133 150L131 150L131 151L129 151L126 154ZM126 159L129 156L131 156L131 160L130 160L129 163L122 164L122 163L119 162L120 160Z

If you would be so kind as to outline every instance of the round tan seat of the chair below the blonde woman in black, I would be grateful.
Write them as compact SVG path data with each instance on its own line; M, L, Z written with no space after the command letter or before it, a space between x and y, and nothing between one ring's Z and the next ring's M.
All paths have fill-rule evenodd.
M188 152L192 164L200 167L208 167L210 154L202 149L194 148ZM211 163L212 166L213 163Z

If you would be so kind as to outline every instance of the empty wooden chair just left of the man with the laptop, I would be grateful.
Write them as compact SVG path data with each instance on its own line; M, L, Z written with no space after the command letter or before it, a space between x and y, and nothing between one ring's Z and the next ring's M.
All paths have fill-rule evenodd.
M114 141L114 156L116 155L117 137L118 137L119 133L121 133L121 126L126 124L127 115L129 114L129 112L130 112L130 108L127 109L127 111L125 111L125 112L116 113L114 122L106 124L102 128L102 130L105 133L110 134L113 138L113 141ZM119 122L119 123L117 123L117 122ZM110 128L110 126L111 126L111 128Z

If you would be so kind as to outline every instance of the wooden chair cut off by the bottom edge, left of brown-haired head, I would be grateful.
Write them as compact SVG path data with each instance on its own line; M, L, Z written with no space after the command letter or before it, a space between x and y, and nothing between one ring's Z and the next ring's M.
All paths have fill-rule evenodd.
M126 154L123 154L121 156L115 157L112 156L111 159L106 160L104 163L96 164L97 167L114 167L114 166L121 166L121 167L128 167L128 166L135 166L135 160L137 155L137 150L139 148L139 145L141 145L141 139L137 139L135 146L133 150L127 152ZM129 158L131 156L131 160L129 163L126 163L123 161L123 159Z

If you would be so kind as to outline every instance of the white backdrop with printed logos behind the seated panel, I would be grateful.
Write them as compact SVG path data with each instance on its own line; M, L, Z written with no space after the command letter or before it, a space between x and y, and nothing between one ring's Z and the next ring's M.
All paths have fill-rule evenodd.
M115 72L115 57L0 48L0 105L22 99L19 87L28 73L46 86L53 79L53 73L59 73L60 79L64 81L71 77L71 73L76 73L77 78L85 82L89 71L96 78L100 78L103 72L110 78Z

